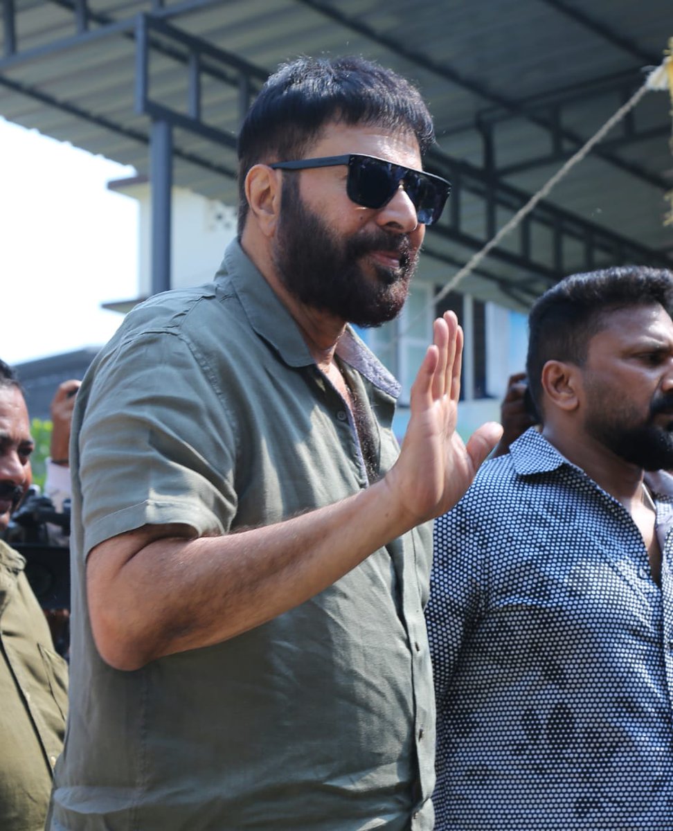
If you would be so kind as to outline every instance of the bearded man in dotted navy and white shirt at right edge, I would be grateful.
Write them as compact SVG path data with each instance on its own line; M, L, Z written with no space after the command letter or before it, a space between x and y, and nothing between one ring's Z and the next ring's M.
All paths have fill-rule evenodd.
M529 317L539 429L435 525L436 828L673 829L673 273Z

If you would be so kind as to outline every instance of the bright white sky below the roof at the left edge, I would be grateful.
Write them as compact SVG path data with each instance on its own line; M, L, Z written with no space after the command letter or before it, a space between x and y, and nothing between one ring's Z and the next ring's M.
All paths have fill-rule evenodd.
M137 296L138 210L106 188L133 168L0 118L0 357L101 346Z

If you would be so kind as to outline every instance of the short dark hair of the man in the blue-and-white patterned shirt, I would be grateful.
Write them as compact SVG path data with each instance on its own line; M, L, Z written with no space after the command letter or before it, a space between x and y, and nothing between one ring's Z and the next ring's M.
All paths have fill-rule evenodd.
M539 297L528 315L528 388L540 416L542 370L547 361L582 366L591 338L611 312L631 306L663 306L673 312L673 272L618 266L572 274Z

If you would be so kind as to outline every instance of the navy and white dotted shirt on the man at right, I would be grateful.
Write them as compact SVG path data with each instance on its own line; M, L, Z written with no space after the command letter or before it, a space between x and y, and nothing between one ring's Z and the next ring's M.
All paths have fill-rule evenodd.
M438 831L673 831L673 479L656 481L661 588L630 515L535 430L437 520Z

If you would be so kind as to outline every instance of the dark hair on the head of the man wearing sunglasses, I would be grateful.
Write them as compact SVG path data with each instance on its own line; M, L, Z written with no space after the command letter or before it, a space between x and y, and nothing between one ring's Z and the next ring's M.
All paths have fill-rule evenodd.
M248 202L245 177L259 162L301 159L330 121L407 131L424 155L435 130L420 92L400 75L362 57L300 57L264 84L238 134L238 234Z

